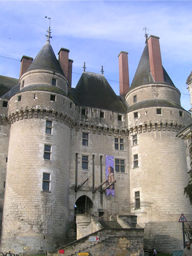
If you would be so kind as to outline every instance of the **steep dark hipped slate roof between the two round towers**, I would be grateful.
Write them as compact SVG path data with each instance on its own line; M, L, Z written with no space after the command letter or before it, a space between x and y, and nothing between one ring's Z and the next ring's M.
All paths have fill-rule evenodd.
M75 104L98 109L125 112L123 99L117 96L104 75L83 72L73 91Z

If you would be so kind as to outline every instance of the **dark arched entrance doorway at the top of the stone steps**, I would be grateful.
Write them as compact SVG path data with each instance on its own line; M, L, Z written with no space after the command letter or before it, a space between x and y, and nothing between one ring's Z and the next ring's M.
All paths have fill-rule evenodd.
M88 196L80 196L75 202L75 214L92 214L93 203Z

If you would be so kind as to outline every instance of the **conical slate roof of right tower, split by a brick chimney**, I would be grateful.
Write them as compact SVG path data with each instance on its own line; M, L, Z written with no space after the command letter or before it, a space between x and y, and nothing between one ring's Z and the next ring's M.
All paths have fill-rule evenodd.
M161 84L174 86L174 83L171 81L171 78L168 76L164 67L162 67L162 69L164 74L164 83L161 82ZM142 52L139 65L138 68L136 69L135 76L133 77L132 85L130 86L129 91L141 85L149 85L150 83L155 84L152 74L150 73L149 48L148 43L146 43L146 46L144 48L144 51Z

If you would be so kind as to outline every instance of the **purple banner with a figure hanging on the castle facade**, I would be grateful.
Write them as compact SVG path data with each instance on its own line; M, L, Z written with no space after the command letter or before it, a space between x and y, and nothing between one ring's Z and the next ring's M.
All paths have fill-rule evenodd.
M114 178L114 156L106 156L105 163L106 163L107 185L109 185L110 182L115 181L115 178ZM109 196L109 194L112 194L112 196L115 196L115 185L114 184L112 184L109 188L107 188L106 194L107 194L107 196Z

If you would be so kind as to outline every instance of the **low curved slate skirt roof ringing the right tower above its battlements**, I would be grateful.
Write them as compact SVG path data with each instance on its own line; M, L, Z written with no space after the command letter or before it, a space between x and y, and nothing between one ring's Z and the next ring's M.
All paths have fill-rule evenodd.
M176 107L178 109L185 110L179 104L177 104L171 100L144 100L144 101L135 103L132 106L130 106L128 108L127 112L135 111L138 109L143 109L146 107Z

